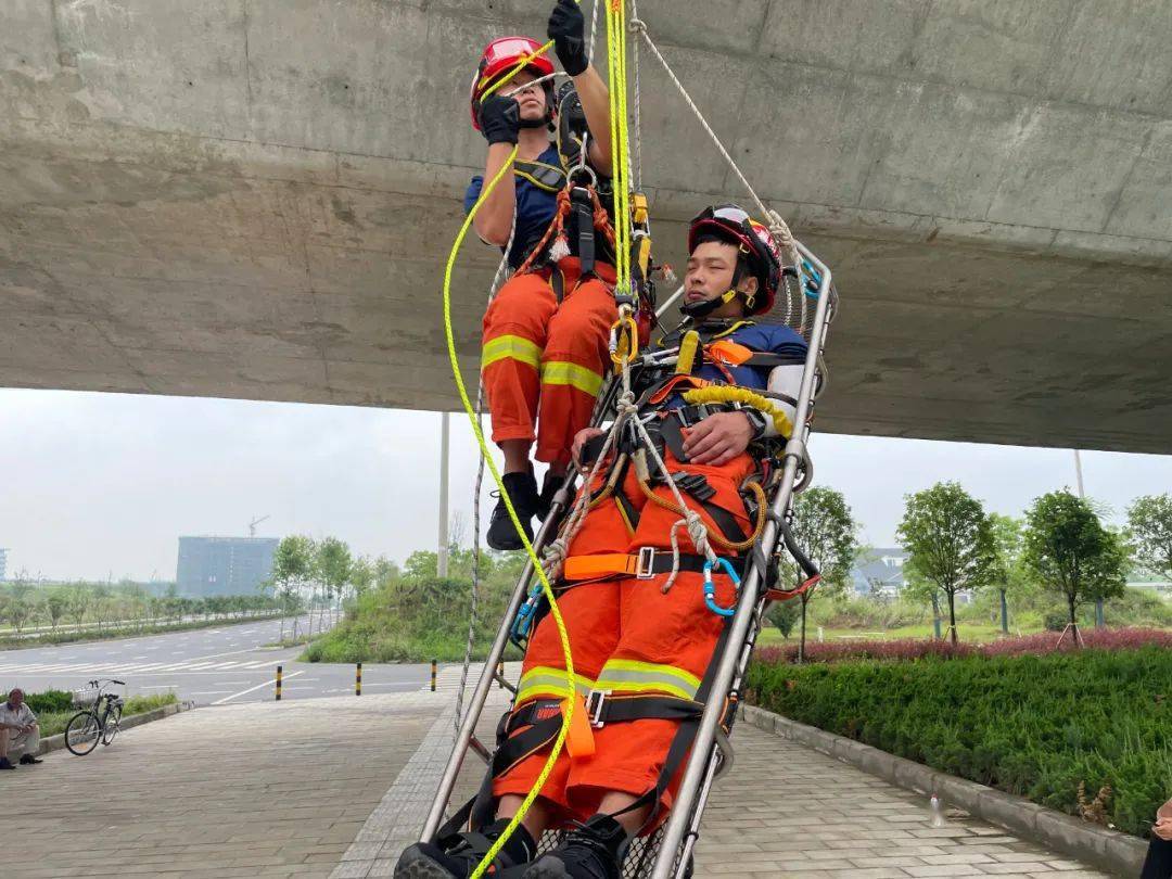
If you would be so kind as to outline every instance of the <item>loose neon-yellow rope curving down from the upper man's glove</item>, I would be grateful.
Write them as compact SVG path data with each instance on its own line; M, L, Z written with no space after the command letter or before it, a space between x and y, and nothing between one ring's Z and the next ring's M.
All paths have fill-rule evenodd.
M456 336L452 332L451 326L451 273L456 265L456 255L459 253L459 247L464 243L464 238L468 236L468 230L472 226L472 220L476 219L477 211L481 210L481 205L484 204L485 199L492 195L492 190L496 189L497 184L505 176L517 158L517 146L513 146L512 154L509 156L509 161L505 162L500 170L497 171L496 176L484 188L481 197L472 205L472 210L468 212L468 217L464 218L464 225L459 229L459 234L456 236L456 243L451 247L451 253L448 254L448 266L444 270L443 275L443 322L444 322L444 335L448 340L448 359L451 361L451 373L456 380L456 388L459 390L461 402L464 404L464 413L468 415L468 421L472 425L472 432L476 434L476 442L481 447L481 455L488 462L489 470L492 472L492 478L497 483L497 489L500 491L500 499L505 502L505 509L509 511L509 518L512 519L513 527L517 529L517 533L525 545L525 552L529 553L530 560L533 563L533 570L541 581L541 591L545 593L546 601L550 602L550 612L553 615L553 621L558 627L558 636L561 639L561 652L566 660L566 682L570 693L574 693L574 660L570 652L570 634L566 632L565 620L561 619L561 611L558 608L557 599L553 594L553 588L550 586L550 580L545 575L545 571L541 570L541 560L537 557L537 552L533 550L533 545L525 537L522 530L520 519L517 517L517 510L513 507L512 499L509 497L509 492L505 490L504 482L500 478L500 472L497 470L496 462L492 459L492 454L489 451L489 444L484 440L484 431L481 430L479 420L476 417L476 409L472 407L472 401L468 397L468 388L464 387L464 379L459 374L459 359L456 355ZM566 734L570 731L570 721L573 718L573 713L575 710L575 699L566 700L566 710L561 716L561 728L558 730L558 737L553 741L553 749L550 751L548 758L545 761L545 765L541 768L541 774L537 777L537 782L530 789L529 793L525 796L520 809L509 822L509 826L505 827L505 832L502 833L492 847L489 849L488 854L477 865L476 870L472 871L471 879L481 879L485 871L492 866L492 861L496 859L497 854L504 847L509 838L517 831L520 826L522 820L525 818L526 812L533 805L533 800L537 799L538 793L540 793L541 788L548 779L550 774L553 771L553 766L558 761L558 756L561 754L561 749L566 742Z

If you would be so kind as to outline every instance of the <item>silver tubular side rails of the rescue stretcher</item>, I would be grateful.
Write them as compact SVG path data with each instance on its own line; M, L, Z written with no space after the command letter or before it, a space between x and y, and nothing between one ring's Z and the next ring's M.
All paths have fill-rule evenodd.
M815 396L819 381L822 355L826 345L830 322L833 319L837 294L832 287L830 268L819 260L805 245L795 241L802 259L809 263L818 274L817 302L815 306L813 320L810 326L805 366L802 373L802 383L797 398L796 414L793 418L793 435L785 444L783 473L774 497L770 503L770 516L762 533L758 547L768 559L774 556L782 540L781 523L791 513L791 505L796 491L800 491L808 484L811 472L806 442L810 436L810 422L813 413ZM809 295L802 284L798 286L798 297ZM600 416L606 413L613 403L613 391L618 382L609 383L609 391L599 397L595 404L592 423L598 423ZM802 484L798 483L799 472ZM573 479L567 479L566 485L572 485ZM567 510L572 502L567 488L563 488L554 497L550 516L541 523L534 539L533 546L540 552L550 541L551 531L554 523L560 522L561 512ZM792 554L792 553L791 553ZM713 783L717 775L723 774L732 764L732 748L721 729L720 722L724 713L724 699L716 697L716 694L729 695L738 693L744 680L744 674L752 656L757 635L761 632L762 620L768 604L765 588L759 581L762 572L756 565L750 565L741 584L737 595L736 612L729 622L730 632L723 654L716 660L717 666L714 673L711 696L704 706L691 751L683 768L683 777L675 795L675 800L667 822L641 846L633 845L624 865L624 877L632 879L686 879L691 873L691 857L695 845L700 838L700 824L703 818L704 808L713 790ZM510 689L516 696L516 688L504 680L500 673L500 662L509 645L509 635L512 622L522 602L529 594L530 581L533 578L532 560L527 561L517 585L509 600L509 607L497 631L492 648L484 662L472 697L468 709L461 721L456 734L448 763L444 766L443 776L435 799L428 811L420 841L431 843L436 833L445 820L445 812L451 800L459 771L464 764L464 757L469 749L476 751L486 763L491 764L492 751L476 737L476 725L481 720L488 700L489 690L493 681ZM653 846L654 859L650 871L645 868L648 858L647 846ZM628 865L638 861L639 866L634 872L628 872Z

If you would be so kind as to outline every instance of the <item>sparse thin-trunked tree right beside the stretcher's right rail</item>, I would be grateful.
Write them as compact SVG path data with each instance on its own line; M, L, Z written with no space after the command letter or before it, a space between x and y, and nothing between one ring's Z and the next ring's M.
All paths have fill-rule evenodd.
M793 538L822 572L817 593L840 595L851 581L857 550L858 525L851 515L843 493L830 488L815 488L797 496L793 502ZM800 568L795 568L795 587L804 579ZM798 641L798 662L805 660L806 608L816 592L800 593L802 633ZM775 622L775 625L777 625Z

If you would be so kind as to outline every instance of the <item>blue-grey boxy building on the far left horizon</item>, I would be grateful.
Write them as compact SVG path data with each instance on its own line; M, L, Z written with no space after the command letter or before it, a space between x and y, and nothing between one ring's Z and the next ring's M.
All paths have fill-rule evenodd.
M179 594L254 594L272 573L277 544L273 537L180 537Z

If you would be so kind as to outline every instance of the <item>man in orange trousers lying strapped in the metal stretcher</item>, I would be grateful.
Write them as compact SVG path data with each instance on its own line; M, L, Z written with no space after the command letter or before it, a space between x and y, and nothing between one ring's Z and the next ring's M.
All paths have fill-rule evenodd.
M681 356L684 362L674 369L641 374L638 394L648 401L641 415L652 416L649 430L662 437L656 449L706 524L710 546L741 574L765 513L763 484L770 473L762 462L777 448L765 443L789 430L781 407L766 397L771 377L803 362L806 343L792 329L747 319L772 307L781 282L781 258L768 230L727 205L701 213L688 238L687 319L661 345L675 347L695 332L682 349L699 340L702 352L694 360ZM764 411L728 402L738 393L747 397L749 389ZM588 428L575 438L574 456L587 472L591 440L601 432ZM659 826L672 806L704 701L724 699L708 691L707 677L727 629L721 612L735 606L736 584L723 565L711 571L713 585L706 584L708 559L687 530L679 532L680 567L670 579L672 532L683 517L646 450L625 440L582 491L592 492L592 509L554 587L577 695L586 697L575 715L585 711L595 721L593 748L559 755L524 824L497 857L495 875L618 879L627 843ZM477 819L473 811L473 826L486 825L478 833L411 846L397 877L471 874L536 783L561 723L561 701L573 695L557 626L546 616L529 643L516 708L498 741L496 820L489 823L492 813L483 809ZM534 860L543 831L565 827L574 829Z

